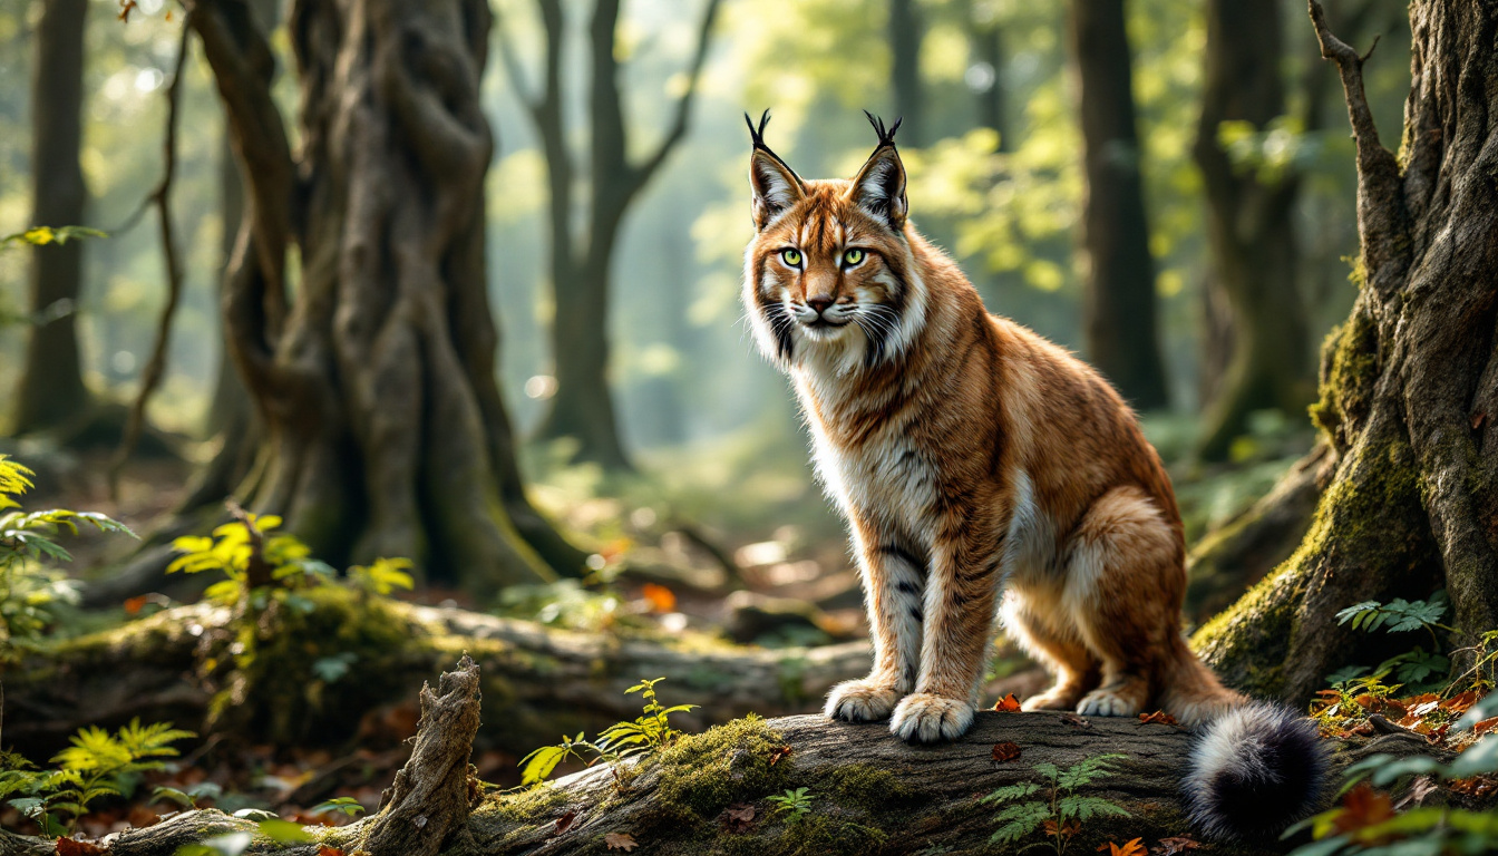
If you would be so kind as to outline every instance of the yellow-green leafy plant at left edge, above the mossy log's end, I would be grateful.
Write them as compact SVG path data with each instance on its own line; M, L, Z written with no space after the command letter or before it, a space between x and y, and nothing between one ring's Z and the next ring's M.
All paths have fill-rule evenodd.
M24 511L19 496L34 487L34 475L0 454L0 663L13 658L16 648L34 645L57 621L57 607L78 600L67 576L51 567L72 561L55 540L60 532L76 535L82 523L135 537L103 514L66 508Z

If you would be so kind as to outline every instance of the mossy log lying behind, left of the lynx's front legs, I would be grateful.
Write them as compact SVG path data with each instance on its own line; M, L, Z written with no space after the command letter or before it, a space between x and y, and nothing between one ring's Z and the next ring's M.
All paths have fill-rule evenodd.
M307 612L261 616L253 639L231 610L195 604L67 640L4 676L4 735L46 757L84 724L130 717L202 733L337 747L361 718L415 697L422 681L467 654L484 667L479 742L524 754L563 732L595 732L640 715L640 678L668 676L670 703L698 705L692 729L749 712L815 709L837 681L869 669L866 643L752 649L701 634L575 633L458 609L310 589ZM234 664L235 646L253 657ZM241 648L243 651L243 648ZM352 657L351 657L352 655ZM348 661L336 679L327 658Z

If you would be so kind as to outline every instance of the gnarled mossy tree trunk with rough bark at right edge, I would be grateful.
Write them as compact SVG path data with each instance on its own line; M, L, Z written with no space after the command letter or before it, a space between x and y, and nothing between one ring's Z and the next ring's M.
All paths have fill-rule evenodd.
M1368 111L1363 58L1311 9L1357 141L1362 291L1327 343L1312 408L1336 469L1294 556L1194 639L1230 684L1293 702L1341 666L1408 651L1408 639L1339 627L1354 603L1446 588L1452 648L1498 627L1498 90L1486 85L1498 10L1410 4L1414 81L1396 159Z

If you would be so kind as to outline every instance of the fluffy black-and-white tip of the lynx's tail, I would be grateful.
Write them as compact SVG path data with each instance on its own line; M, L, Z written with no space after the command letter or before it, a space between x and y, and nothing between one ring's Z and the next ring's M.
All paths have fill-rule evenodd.
M1275 838L1321 804L1329 765L1315 723L1263 702L1234 708L1192 751L1191 820L1213 840Z

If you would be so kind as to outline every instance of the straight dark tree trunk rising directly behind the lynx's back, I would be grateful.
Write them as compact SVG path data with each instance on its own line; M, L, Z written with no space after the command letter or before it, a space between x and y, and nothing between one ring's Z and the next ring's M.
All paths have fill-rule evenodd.
M1088 358L1135 408L1164 408L1170 390L1159 357L1124 0L1071 0L1070 10L1088 178L1082 223Z

